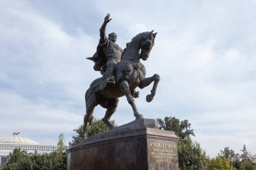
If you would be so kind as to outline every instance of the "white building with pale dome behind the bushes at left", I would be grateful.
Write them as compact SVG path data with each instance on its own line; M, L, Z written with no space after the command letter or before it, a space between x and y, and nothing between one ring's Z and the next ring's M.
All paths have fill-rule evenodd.
M7 162L7 156L14 148L21 148L28 153L51 153L57 149L57 146L42 145L29 138L18 136L20 133L13 133L13 136L0 138L0 165Z

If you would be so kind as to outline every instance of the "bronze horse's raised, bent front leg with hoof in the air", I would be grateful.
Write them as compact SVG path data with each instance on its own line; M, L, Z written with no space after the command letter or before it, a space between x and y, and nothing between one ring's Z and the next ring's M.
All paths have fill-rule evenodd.
M156 95L156 87L158 87L158 82L160 81L160 76L158 74L154 74L152 77L145 78L145 79L141 80L141 82L139 83L139 86L138 86L140 89L143 89L144 87L147 87L148 85L150 85L150 83L152 83L152 81L154 81L154 85L151 90L151 94L147 95L147 97L146 97L146 101L148 101L148 102L152 101L152 99L154 99L154 96Z

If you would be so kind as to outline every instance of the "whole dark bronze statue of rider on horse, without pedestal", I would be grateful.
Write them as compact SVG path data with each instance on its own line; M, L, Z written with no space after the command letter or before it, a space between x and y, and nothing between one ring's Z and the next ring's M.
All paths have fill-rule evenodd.
M119 97L122 97L123 95L127 97L127 101L133 108L135 118L143 118L143 116L137 111L135 100L133 98L137 96L135 88L139 87L140 89L143 89L154 81L151 94L146 97L146 101L150 102L154 95L156 95L156 87L160 81L160 76L157 74L152 77L145 78L146 69L140 62L140 58L142 60L147 60L150 56L150 51L154 46L154 40L157 33L153 33L152 31L137 34L137 36L131 39L131 42L127 43L127 48L125 48L125 52L123 53L123 50L115 44L115 36L109 36L108 39L106 36L102 36L105 32L106 24L111 20L109 19L109 16L109 14L106 15L104 24L100 29L100 44L97 47L97 52L93 57L88 58L95 62L94 70L101 71L104 76L94 80L86 91L86 115L84 116L83 132L84 138L86 137L86 126L88 122L91 124L94 108L98 104L103 108L106 108L106 114L103 121L110 128L114 128L113 124L110 123L110 117L117 109ZM106 51L108 48L106 46L110 46L110 48L112 48L113 53L111 54L113 55L108 55L108 52ZM113 49L113 47L115 49ZM110 60L110 62L108 62L108 60ZM115 62L114 69L112 64L113 62ZM111 63L110 66L108 63ZM104 69L105 67L106 69ZM110 74L107 73L108 68L111 69L111 74L113 74L115 81L111 81L111 79L109 79Z

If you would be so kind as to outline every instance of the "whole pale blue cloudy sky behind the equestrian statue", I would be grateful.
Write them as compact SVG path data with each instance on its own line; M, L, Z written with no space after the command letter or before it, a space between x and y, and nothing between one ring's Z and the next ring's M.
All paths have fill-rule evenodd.
M193 140L210 157L228 146L256 154L256 1L0 0L0 136L57 144L83 123L84 94L100 77L86 57L96 52L104 17L125 44L158 32L147 77L160 75L135 99L144 118L189 120ZM105 110L96 107L94 117ZM125 97L111 118L135 120Z

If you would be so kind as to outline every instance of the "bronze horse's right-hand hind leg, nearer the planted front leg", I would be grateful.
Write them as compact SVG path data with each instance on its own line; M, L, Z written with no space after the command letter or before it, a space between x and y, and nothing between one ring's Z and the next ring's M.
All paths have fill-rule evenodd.
M119 102L119 99L109 99L108 103L106 105L106 114L104 116L104 118L102 119L103 122L108 125L109 128L113 129L115 128L115 126L113 126L113 124L111 124L110 122L110 117L115 113L115 111L117 110L117 104Z

